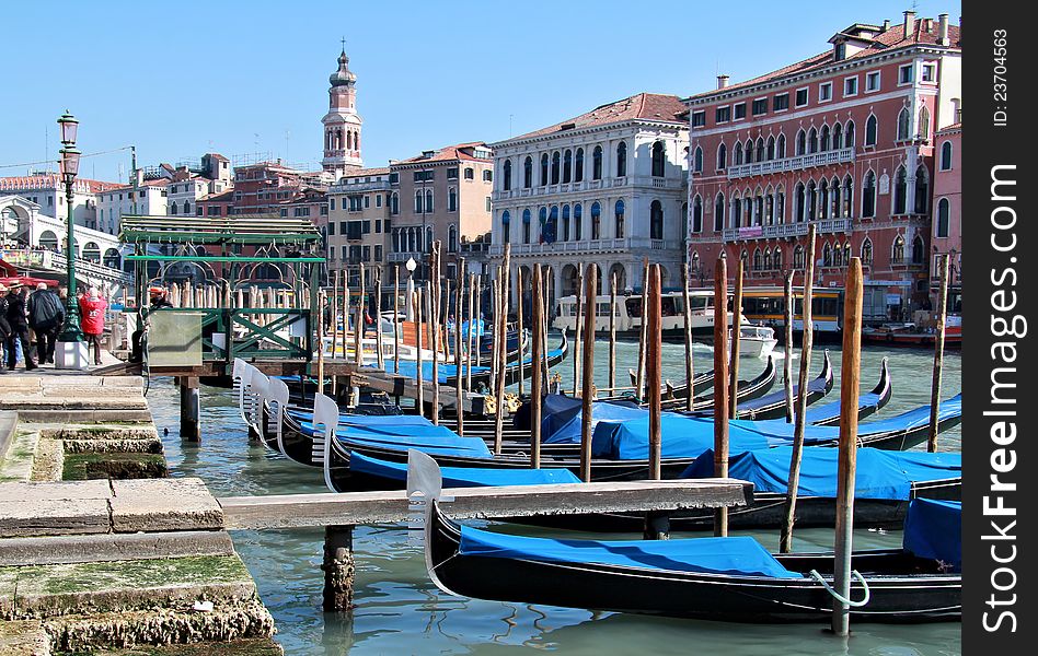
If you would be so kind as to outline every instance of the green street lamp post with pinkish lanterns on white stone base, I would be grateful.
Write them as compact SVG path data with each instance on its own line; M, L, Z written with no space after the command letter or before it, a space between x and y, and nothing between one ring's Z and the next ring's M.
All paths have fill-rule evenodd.
M58 336L56 349L56 368L86 368L86 343L79 326L79 301L76 297L76 220L72 215L72 185L79 174L80 151L76 148L76 133L79 121L66 110L58 119L61 127L61 181L65 184L65 204L68 209L68 235L65 256L68 266L68 297L66 298L65 325Z

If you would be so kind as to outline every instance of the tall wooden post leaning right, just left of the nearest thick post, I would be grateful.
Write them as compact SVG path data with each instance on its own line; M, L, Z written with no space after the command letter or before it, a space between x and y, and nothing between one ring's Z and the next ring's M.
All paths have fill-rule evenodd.
M781 553L793 550L793 524L796 522L796 495L800 484L800 458L804 454L804 425L807 420L807 377L811 368L811 345L814 343L815 326L811 319L811 304L814 301L815 281L815 224L807 227L807 261L804 270L804 301L800 317L804 320L804 333L800 337L800 377L797 380L797 397L795 401L796 417L793 424L793 453L789 457L789 488L786 492L785 514L782 518L782 531L778 542ZM846 328L844 327L844 330ZM854 397L854 407L857 408L857 397Z

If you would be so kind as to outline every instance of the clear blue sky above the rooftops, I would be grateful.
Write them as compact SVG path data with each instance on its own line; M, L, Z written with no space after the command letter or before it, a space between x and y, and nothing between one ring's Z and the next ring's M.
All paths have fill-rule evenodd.
M735 2L12 2L0 175L57 159L55 120L86 153L134 144L153 165L270 152L316 166L327 77L345 36L367 166L493 142L642 91L706 91L828 47L854 22L902 20L911 0ZM961 2L914 2L920 16ZM521 7L521 9L520 9ZM13 66L12 66L13 65ZM49 141L49 149L48 147ZM49 152L48 152L49 151ZM116 179L128 151L83 161Z

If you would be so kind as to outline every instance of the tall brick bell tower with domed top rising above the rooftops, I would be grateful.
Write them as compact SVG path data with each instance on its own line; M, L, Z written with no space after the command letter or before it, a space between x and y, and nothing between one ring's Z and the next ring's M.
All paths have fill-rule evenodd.
M351 168L364 166L360 157L360 127L364 120L357 114L357 75L349 70L349 57L345 45L338 56L338 70L328 78L328 113L324 125L325 171L341 175Z

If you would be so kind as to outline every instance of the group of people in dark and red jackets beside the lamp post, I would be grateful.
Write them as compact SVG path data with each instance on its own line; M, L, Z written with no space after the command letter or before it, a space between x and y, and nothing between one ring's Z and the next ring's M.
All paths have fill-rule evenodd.
M19 361L25 362L25 371L41 364L54 364L54 352L58 333L65 325L65 306L68 291L55 292L41 282L32 294L25 285L14 283L10 289L0 284L0 343L3 359L0 366L14 370ZM104 315L107 302L97 288L78 294L80 328L89 347L93 348L93 361L101 364L101 336L104 332Z

